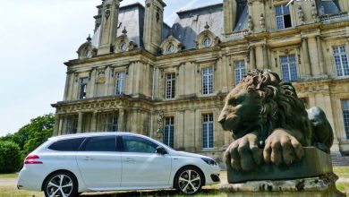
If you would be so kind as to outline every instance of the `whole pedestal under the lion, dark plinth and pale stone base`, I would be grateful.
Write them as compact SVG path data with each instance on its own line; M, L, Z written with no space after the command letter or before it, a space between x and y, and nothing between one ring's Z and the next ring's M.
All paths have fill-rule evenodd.
M329 155L313 147L304 157L287 166L264 164L251 172L230 170L228 182L220 187L227 196L345 196L336 190L338 177Z

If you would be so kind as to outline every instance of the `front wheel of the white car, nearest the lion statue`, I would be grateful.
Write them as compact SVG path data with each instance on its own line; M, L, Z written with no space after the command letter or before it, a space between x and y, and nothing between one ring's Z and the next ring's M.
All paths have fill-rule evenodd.
M174 188L184 194L199 193L204 176L197 167L183 167L174 176Z

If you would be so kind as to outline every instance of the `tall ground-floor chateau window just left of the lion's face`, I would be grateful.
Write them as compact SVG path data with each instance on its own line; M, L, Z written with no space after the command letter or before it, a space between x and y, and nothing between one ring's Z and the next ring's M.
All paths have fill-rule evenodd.
M213 114L202 116L202 148L213 148Z

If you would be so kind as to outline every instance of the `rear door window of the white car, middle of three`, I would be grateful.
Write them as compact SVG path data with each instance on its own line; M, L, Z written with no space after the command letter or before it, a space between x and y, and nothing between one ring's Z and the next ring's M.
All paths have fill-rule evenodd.
M116 137L115 135L89 137L81 146L81 151L116 151Z

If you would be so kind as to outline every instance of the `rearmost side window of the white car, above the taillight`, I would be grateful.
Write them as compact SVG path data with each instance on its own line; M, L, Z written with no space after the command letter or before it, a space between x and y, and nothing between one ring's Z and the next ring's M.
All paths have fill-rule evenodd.
M74 138L68 140L55 141L51 144L49 150L58 150L58 151L77 151L85 138Z

